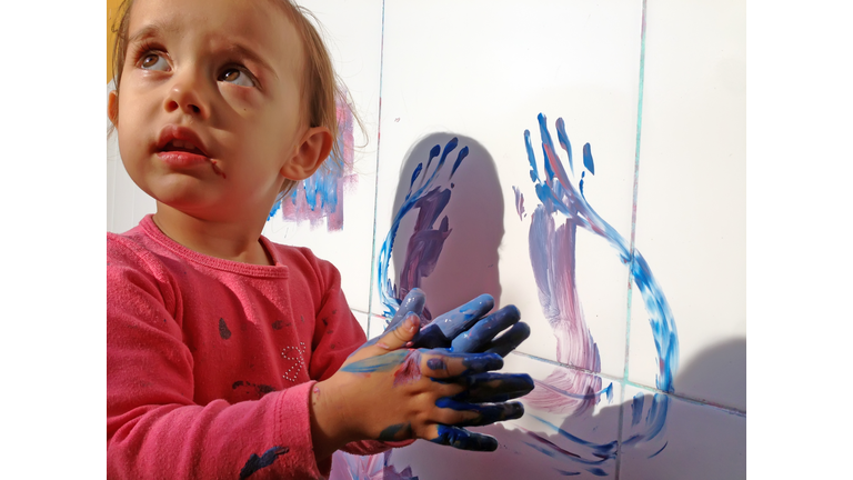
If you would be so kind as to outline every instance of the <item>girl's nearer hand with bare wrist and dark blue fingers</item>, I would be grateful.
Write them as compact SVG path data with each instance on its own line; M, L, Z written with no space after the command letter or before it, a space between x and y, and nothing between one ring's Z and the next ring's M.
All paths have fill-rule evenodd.
M419 331L417 314L354 352L312 391L312 434L318 458L353 440L422 438L465 450L496 449L494 438L462 427L520 418L506 400L526 394L526 374L489 373L503 367L496 353L407 349ZM498 403L480 403L498 402ZM318 446L320 442L320 446ZM331 454L331 451L328 451Z

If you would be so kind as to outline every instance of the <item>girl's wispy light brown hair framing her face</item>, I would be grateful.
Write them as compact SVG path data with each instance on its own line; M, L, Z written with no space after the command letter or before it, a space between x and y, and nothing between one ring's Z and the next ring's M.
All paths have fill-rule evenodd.
M332 133L332 151L329 159L343 162L343 152L341 142L337 141L338 103L342 103L353 116L363 131L363 124L359 118L352 101L343 88L343 82L338 78L332 67L332 59L325 47L318 27L320 21L304 7L301 7L292 0L269 0L279 6L288 20L297 29L299 38L302 40L302 50L304 52L305 64L303 66L303 78L301 86L302 104L300 110L302 119L307 120L308 127L325 127ZM119 6L117 21L113 23L112 31L116 33L116 40L112 47L112 72L116 84L116 94L118 97L121 86L121 72L124 67L128 54L128 28L130 26L130 9L133 0L123 0ZM312 19L318 27L310 20ZM322 169L329 169L327 161L323 161ZM299 183L297 180L285 179L281 187L277 201L281 200Z

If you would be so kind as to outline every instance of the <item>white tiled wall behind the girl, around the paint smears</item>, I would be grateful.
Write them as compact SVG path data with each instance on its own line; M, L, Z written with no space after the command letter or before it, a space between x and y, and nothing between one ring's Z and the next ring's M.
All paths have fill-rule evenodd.
M501 442L496 453L419 441L364 469L388 462L422 480L745 478L744 2L303 3L325 27L365 127L357 127L355 143L367 146L355 150L360 177L344 199L342 231L273 220L264 234L309 246L338 266L357 319L370 337L379 334L380 247L415 166L458 137L471 153L444 212L452 232L423 282L430 308L442 312L490 292L500 304L519 306L532 328L505 371L543 384L559 372L594 374L611 386L610 397L575 413L524 400L523 419L482 429ZM645 427L652 396L664 394L655 390L661 364L649 314L615 250L581 229L578 293L601 369L555 362L531 269L530 216L519 217L513 193L523 192L530 213L536 198L523 132L531 131L541 169L540 112L555 141L554 121L564 119L575 173L582 146L591 144L595 174L586 173L584 197L633 241L672 309L678 370L663 430L652 440L629 442ZM108 197L111 231L153 211L109 142ZM393 261L402 261L413 224L413 214L401 222ZM645 400L633 424L636 396ZM619 454L593 454L591 446L610 441Z

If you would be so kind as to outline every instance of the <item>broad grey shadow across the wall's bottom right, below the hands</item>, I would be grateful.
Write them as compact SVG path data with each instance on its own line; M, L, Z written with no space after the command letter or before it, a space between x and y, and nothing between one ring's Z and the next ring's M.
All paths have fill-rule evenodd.
M605 380L604 383L609 381ZM675 384L701 384L704 391L714 390L730 399L731 404L745 404L746 340L726 341L703 351L679 372ZM636 392L638 390L632 388L625 392L623 442L646 427L645 419L652 404L652 396L646 393L643 397L643 408L636 416L638 423L634 426L632 404ZM602 402L606 404L606 398L602 397ZM594 463L599 459L591 454L590 448L549 430L533 416L551 419L554 417L546 417L528 408L525 418L521 420L521 426L535 431L545 441L536 440L514 426L506 428L499 423L472 428L494 436L500 442L496 452L465 452L418 441L407 449L394 450L390 456L391 464L397 471L411 466L412 474L420 480L562 479L566 476L578 479L615 478L615 458ZM599 408L595 413L588 411L570 416L555 427L581 439L605 443L616 439L619 417L619 393L615 393L610 406ZM573 454L578 458L572 457ZM645 442L623 444L619 478L745 479L746 419L714 407L671 398L665 427L658 437Z

